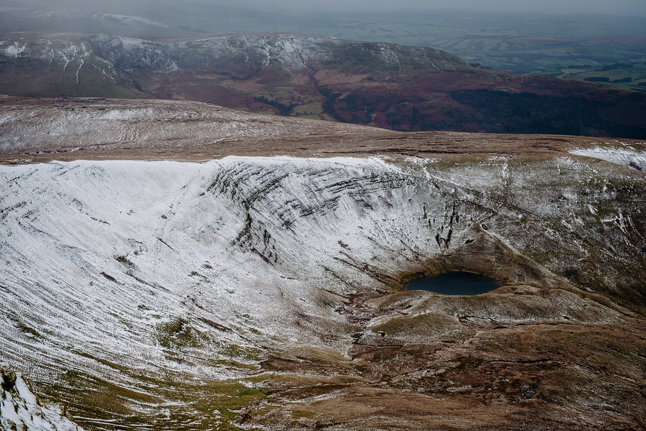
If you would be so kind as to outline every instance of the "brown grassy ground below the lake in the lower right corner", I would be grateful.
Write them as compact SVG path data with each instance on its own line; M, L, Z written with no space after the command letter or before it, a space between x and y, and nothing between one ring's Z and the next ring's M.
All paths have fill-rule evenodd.
M265 362L283 382L266 381L272 395L240 422L271 430L282 429L276 423L413 430L594 430L611 423L628 430L645 419L646 344L635 332L643 322L510 324L457 313L434 315L446 331L426 332L423 342L389 338L375 327L374 335L356 338L346 363ZM298 375L326 377L304 384Z

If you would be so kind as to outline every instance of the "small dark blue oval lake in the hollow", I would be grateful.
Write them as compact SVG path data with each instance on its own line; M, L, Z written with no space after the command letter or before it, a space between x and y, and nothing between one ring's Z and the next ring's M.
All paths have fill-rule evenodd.
M409 281L404 290L428 290L443 295L478 295L499 288L496 280L471 274L471 272L447 272L425 279Z

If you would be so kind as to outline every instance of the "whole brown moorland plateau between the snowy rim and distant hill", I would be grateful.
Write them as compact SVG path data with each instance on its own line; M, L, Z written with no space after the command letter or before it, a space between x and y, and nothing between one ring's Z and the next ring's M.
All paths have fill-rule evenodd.
M395 132L187 100L101 97L2 96L0 125L0 161L8 164L84 158L207 160L227 155L542 158L555 152L595 150L605 142L581 136ZM636 163L646 170L646 165Z

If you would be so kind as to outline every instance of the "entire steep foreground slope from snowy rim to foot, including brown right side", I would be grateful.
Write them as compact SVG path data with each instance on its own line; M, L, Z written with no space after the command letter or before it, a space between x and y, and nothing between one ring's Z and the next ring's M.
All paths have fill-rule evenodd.
M498 157L1 166L0 359L41 388L84 375L137 393L133 376L223 381L308 349L349 361L361 330L352 315L371 299L411 276L461 269L573 288L556 273L643 306L644 208L629 198L646 193L642 174L569 158L531 166ZM487 316L617 320L587 299L556 298Z

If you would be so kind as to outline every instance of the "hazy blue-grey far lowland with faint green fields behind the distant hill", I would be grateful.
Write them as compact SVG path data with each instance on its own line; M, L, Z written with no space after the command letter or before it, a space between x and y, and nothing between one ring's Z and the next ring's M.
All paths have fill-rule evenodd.
M610 72L610 82L640 91L646 83L646 17L636 15L558 15L521 13L514 8L418 10L366 8L356 13L325 13L276 3L217 0L0 0L1 31L101 33L162 41L206 37L209 33L315 33L338 39L432 47L468 63L513 73L583 80L588 72L610 72L617 63L633 66ZM459 3L459 2L457 2ZM349 3L348 3L349 4ZM310 9L310 10L308 10ZM479 8L480 9L480 8ZM618 13L618 9L615 8ZM606 75L592 75L606 76Z

